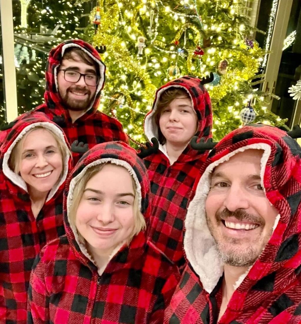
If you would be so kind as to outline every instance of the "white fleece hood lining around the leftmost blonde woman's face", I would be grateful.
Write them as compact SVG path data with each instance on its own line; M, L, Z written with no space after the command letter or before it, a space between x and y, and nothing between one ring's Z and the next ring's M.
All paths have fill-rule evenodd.
M41 121L41 122L36 122L33 124L30 124L28 126L26 126L17 136L17 138L14 140L14 142L10 145L10 147L8 148L8 150L6 151L6 153L3 156L3 173L5 174L5 176L10 179L15 185L17 185L19 188L25 190L26 192L28 192L27 189L27 184L26 182L23 180L23 178L18 175L17 173L15 173L13 170L11 170L8 166L8 160L9 157L11 155L11 152L13 150L13 148L15 147L15 145L21 140L21 138L32 128L35 127L42 127L42 128L46 128L51 130L52 132L54 132L55 134L57 134L60 139L62 140L62 142L64 143L64 147L66 150L66 159L64 161L64 173L61 175L59 182L55 185L54 188L52 188L49 191L49 194L46 198L46 202L48 202L55 194L55 192L58 190L58 188L62 185L62 183L66 180L67 177L67 173L68 173L68 162L69 162L69 158L70 158L70 151L69 148L66 144L66 140L65 140L65 136L64 133L57 127L55 126L53 123L48 122L48 121Z

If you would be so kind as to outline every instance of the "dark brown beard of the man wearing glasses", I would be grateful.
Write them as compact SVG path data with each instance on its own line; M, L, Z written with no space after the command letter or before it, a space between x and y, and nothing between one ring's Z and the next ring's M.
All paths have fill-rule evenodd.
M69 93L71 91L77 91L82 93L87 93L87 98L84 100L76 100L74 98L71 98ZM62 101L66 109L73 110L73 111L81 111L81 110L87 110L92 106L92 103L94 102L94 96L91 96L91 91L87 89L86 87L69 87L66 89L66 93L64 96L61 95Z

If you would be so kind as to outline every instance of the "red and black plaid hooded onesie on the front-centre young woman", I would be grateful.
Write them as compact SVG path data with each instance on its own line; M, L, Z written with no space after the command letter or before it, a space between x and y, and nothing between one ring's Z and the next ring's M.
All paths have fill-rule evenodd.
M149 179L136 151L125 143L109 142L85 153L64 191L66 235L48 244L35 261L28 324L163 323L164 308L178 283L179 272L147 242L145 233L139 232L129 245L123 245L99 274L86 247L79 243L77 230L69 224L67 206L80 175L88 165L107 161L124 166L132 174L137 188L141 187L136 191L141 198L140 210L146 221L149 218Z

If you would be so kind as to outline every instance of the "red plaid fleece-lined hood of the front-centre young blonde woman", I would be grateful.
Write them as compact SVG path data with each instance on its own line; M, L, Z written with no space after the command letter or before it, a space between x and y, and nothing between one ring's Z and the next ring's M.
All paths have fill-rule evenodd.
M148 223L150 217L150 204L148 196L150 185L148 174L143 161L137 156L136 151L123 142L108 142L95 145L79 160L66 182L66 189L64 191L64 220L66 235L70 246L74 248L74 253L81 260L81 262L86 265L88 265L90 262L94 262L92 261L86 247L80 243L77 229L70 225L68 211L72 203L74 187L78 180L82 178L87 169L90 167L106 162L123 166L129 171L136 183L138 205L141 213L145 217L146 223ZM121 248L121 250L129 249L130 253L128 262L132 262L132 258L136 259L141 253L143 253L142 247L144 246L145 242L145 233L140 232L133 238L129 247L124 245Z

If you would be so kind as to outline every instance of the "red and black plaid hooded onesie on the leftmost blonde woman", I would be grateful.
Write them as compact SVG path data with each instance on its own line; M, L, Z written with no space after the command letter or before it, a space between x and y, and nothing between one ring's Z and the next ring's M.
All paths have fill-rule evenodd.
M71 157L67 154L61 179L48 194L35 219L24 180L8 167L18 140L34 127L51 129L65 143L64 132L45 114L33 113L19 120L1 146L0 165L0 323L26 323L27 289L33 261L42 247L65 233L63 188Z

